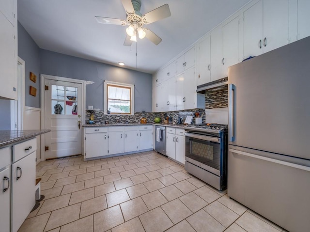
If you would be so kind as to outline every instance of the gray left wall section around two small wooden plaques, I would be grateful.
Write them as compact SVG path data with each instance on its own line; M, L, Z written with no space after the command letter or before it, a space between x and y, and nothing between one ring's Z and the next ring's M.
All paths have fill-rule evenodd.
M18 56L25 61L25 105L40 108L40 48L18 22ZM30 72L37 76L36 83L29 79ZM30 86L37 89L35 97L29 94Z

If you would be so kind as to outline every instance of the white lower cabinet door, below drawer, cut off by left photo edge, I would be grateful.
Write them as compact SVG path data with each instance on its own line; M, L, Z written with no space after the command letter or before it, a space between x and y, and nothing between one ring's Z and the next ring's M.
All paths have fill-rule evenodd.
M9 187L9 183L12 184L11 168L7 167L0 172L0 225L1 231L7 232L10 231L11 221L11 187Z

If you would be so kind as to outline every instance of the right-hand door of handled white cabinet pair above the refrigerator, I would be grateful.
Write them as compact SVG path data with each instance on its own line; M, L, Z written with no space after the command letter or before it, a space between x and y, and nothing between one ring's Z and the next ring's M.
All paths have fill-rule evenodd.
M263 52L288 43L289 0L263 0Z

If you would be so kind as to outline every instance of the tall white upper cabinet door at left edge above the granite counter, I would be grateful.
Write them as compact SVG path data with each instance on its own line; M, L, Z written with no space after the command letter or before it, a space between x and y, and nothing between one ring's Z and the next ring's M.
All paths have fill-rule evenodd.
M0 97L17 100L16 28L0 13ZM4 81L5 80L5 81Z

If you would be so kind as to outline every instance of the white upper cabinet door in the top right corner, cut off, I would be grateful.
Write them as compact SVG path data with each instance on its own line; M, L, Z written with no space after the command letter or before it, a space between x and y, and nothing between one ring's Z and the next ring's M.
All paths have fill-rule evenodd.
M297 0L297 38L310 36L310 1Z

